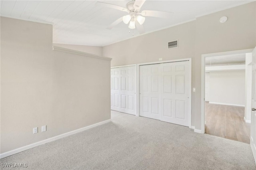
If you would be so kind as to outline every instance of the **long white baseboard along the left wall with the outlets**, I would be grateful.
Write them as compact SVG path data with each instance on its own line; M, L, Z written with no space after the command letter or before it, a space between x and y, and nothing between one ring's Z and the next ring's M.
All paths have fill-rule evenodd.
M17 154L17 153L22 152L22 151L24 151L24 150L28 150L28 149L34 148L34 147L36 147L36 146L40 146L40 145L42 145L42 144L46 144L46 143L48 143L48 142L52 142L52 141L58 140L58 139L60 139L60 138L64 138L64 137L66 137L66 136L70 136L70 135L76 134L76 133L78 133L78 132L82 132L82 131L87 130L87 129L89 129L89 128L93 128L93 127L96 127L96 126L99 126L99 125L108 123L108 122L110 122L110 121L111 121L111 119L108 119L108 120L106 120L106 121L102 121L102 122L99 122L99 123L95 123L95 124L89 125L89 126L87 126L87 127L79 128L79 129L76 129L76 130L73 130L73 131L70 131L70 132L66 132L66 133L60 134L60 135L58 135L58 136L54 136L54 137L52 137L52 138L48 138L48 139L45 139L45 140L41 140L41 141L36 142L36 143L32 143L32 144L29 144L29 145L26 145L26 146L22 146L22 147L20 147L20 148L14 149L14 150L10 150L10 151L8 151L8 152L4 152L4 153L0 154L0 158L2 159L2 158L5 158L5 157L7 157L7 156L11 156L11 155L13 155L13 154Z

